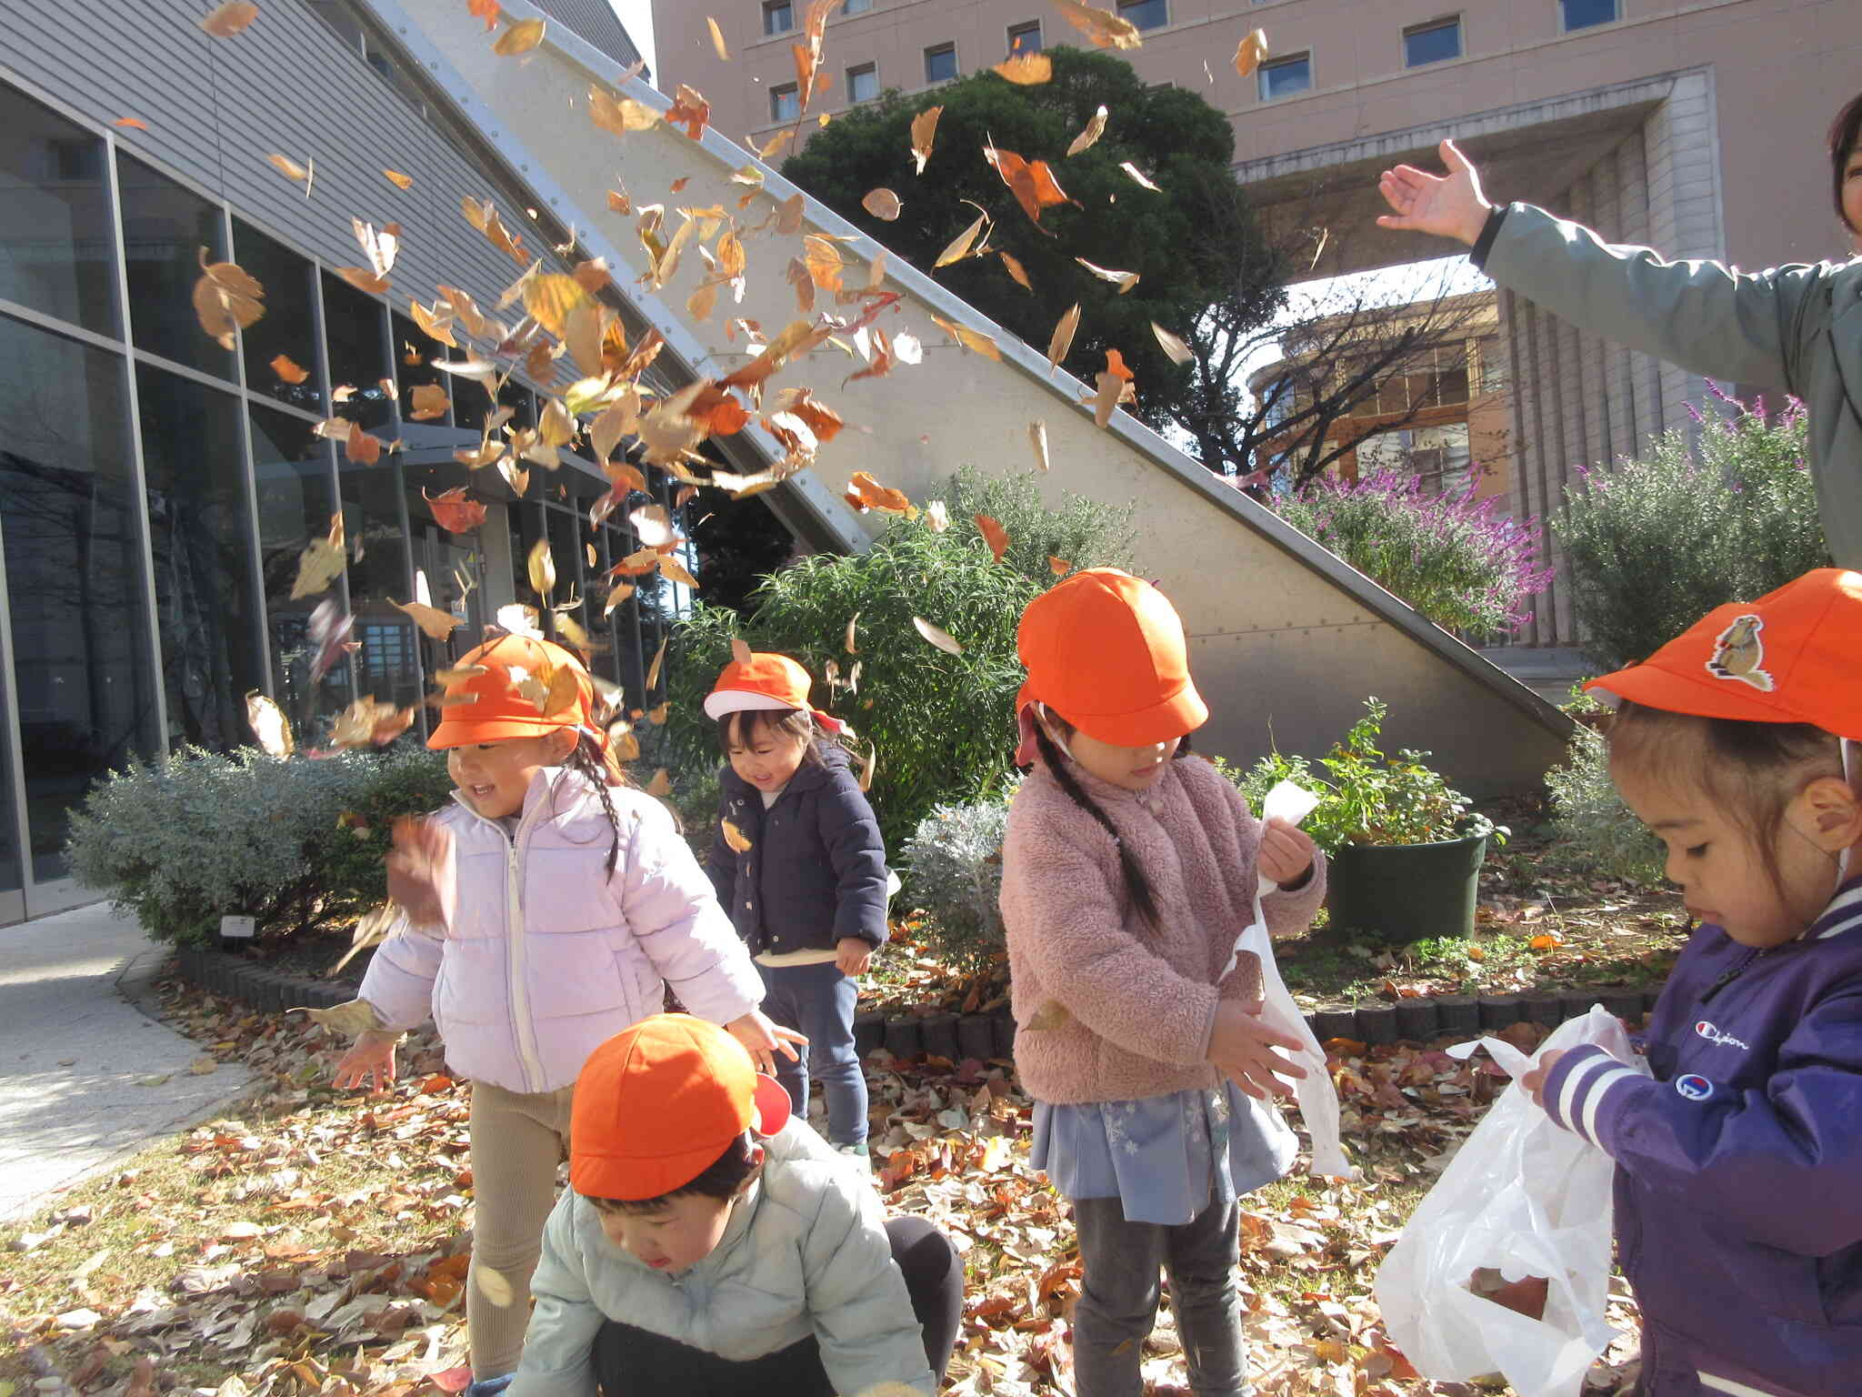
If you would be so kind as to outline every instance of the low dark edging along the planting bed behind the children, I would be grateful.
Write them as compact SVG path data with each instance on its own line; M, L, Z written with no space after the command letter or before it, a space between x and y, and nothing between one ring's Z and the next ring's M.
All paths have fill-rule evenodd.
M220 950L182 946L175 952L175 965L182 978L201 989L244 1000L261 1011L331 1010L356 997L354 985L268 970L259 961L227 956ZM1350 1038L1376 1047L1398 1039L1426 1041L1445 1034L1477 1038L1519 1021L1555 1028L1566 1019L1588 1013L1592 1004L1601 1004L1622 1019L1637 1021L1655 1008L1659 993L1659 987L1618 987L1525 995L1437 995L1404 998L1395 1004L1315 1010L1305 1015L1305 1021L1320 1043L1331 1038ZM1007 1058L1015 1051L1015 1019L1009 1017L1007 1008L991 1013L918 1015L868 1010L853 1019L853 1043L862 1058L879 1047L884 1047L894 1058L916 1058L925 1052L951 1062Z

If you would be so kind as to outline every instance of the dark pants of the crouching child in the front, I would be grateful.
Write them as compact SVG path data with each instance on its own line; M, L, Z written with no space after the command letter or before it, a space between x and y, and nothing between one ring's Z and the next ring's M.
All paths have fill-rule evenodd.
M886 1241L905 1272L925 1362L942 1382L963 1315L963 1257L944 1233L916 1216L888 1218ZM814 1336L734 1363L613 1319L594 1336L594 1378L603 1397L834 1397Z

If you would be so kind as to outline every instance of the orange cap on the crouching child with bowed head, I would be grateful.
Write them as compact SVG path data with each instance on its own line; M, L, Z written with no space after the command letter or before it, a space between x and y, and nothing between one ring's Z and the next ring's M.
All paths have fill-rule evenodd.
M683 1188L745 1131L775 1134L789 1093L743 1045L689 1013L655 1013L588 1054L570 1108L570 1188L639 1201Z

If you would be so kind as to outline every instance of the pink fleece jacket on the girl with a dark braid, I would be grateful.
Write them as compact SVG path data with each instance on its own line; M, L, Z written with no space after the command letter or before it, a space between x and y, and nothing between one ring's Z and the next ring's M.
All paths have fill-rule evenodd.
M1022 782L1002 844L1015 1067L1037 1101L1076 1105L1214 1086L1208 1036L1220 998L1261 1002L1261 965L1244 956L1216 976L1253 920L1261 821L1199 756L1147 792L1069 766L1151 881L1158 928L1125 890L1119 851L1043 764ZM1326 896L1324 855L1290 892L1261 900L1268 931L1302 931ZM1037 1013L1058 1004L1067 1013Z

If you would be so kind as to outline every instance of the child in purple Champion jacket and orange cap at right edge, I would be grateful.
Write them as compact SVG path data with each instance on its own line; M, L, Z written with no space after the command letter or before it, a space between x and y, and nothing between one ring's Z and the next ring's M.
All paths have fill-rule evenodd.
M1611 779L1700 922L1642 1077L1596 1047L1523 1080L1616 1160L1644 1397L1853 1393L1862 1373L1862 574L1715 609L1586 687Z

